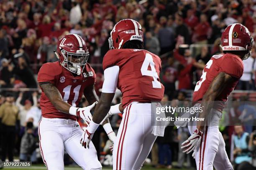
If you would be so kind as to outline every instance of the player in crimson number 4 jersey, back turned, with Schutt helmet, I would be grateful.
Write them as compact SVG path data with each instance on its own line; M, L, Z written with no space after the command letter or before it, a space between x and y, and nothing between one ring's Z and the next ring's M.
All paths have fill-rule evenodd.
M118 87L123 98L116 110L124 113L114 142L113 169L138 170L156 140L152 134L151 101L161 101L164 95L159 80L161 59L143 50L143 31L135 20L121 20L110 34L110 50L103 58L102 94L82 140L90 144Z

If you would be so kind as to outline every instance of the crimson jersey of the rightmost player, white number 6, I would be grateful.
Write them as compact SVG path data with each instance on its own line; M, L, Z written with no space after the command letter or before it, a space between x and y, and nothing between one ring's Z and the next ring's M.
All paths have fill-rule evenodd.
M210 84L220 72L225 72L226 74L236 78L236 81L227 85L227 87L225 87L221 94L215 99L215 101L220 102L215 102L214 107L218 110L223 110L225 102L228 100L228 95L236 87L238 80L243 75L243 62L241 58L230 53L213 55L207 62L202 72L202 76L195 87L193 95L194 102L202 100Z

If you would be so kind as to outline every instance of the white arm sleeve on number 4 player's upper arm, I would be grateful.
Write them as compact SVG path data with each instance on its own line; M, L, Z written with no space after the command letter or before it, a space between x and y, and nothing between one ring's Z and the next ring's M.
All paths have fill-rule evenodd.
M115 65L104 70L102 92L115 93L118 84L119 66Z

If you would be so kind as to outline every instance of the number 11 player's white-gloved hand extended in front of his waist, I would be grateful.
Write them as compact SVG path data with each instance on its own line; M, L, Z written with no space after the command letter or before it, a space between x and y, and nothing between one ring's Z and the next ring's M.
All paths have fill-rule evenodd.
M82 107L77 109L77 117L80 117L84 122L89 126L90 121L92 120L92 114L90 110L97 104L97 101L92 103L92 105L87 107Z

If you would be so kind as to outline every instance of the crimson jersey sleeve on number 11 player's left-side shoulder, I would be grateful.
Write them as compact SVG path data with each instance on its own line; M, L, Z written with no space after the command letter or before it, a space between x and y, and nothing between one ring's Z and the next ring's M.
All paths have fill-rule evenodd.
M54 83L54 77L61 73L61 70L54 67L52 63L42 65L38 72L37 81L39 84L43 82Z

